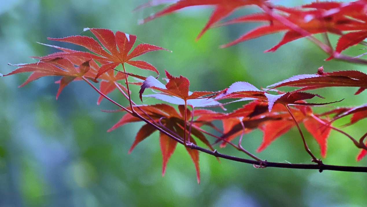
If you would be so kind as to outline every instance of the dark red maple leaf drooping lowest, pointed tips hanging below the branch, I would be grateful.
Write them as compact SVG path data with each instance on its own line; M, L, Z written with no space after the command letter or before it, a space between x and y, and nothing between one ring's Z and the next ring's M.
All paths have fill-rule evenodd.
M185 128L185 108L183 105L179 105L179 112L175 110L174 107L167 105L167 104L157 104L152 106L139 106L139 111L137 113L141 115L142 117L149 119L150 122L157 124L159 127L162 127L166 129L168 132L174 134L177 138L182 139L184 128ZM188 116L191 117L191 111L187 110ZM193 114L194 116L200 115L199 114ZM123 126L130 122L137 122L141 121L141 119L134 117L131 114L125 114L117 124L112 126L112 128L109 129L109 131L112 131L120 126ZM186 123L188 125L188 123ZM193 121L192 125L194 126L202 126L202 121ZM186 126L189 128L189 126ZM137 136L135 137L135 141L132 144L129 153L135 148L135 146L147 138L149 135L151 135L153 132L157 131L156 127L153 127L152 125L145 124L142 126L142 128L138 131ZM186 133L189 133L186 131ZM201 142L206 144L210 149L214 150L209 143L209 141L206 139L206 137L203 135L202 132L200 132L195 127L190 128L190 134L187 134L189 136L189 141L196 144L195 139L193 139L193 136L195 136L197 139L200 139ZM174 152L177 142L171 138L169 138L166 134L160 132L159 135L159 142L162 152L162 158L163 158L163 166L162 166L162 175L166 172L166 166L168 159L171 157L172 153ZM199 152L194 149L190 149L189 147L185 147L188 153L190 154L190 157L192 158L193 163L195 164L195 168L197 171L197 180L200 182L200 168L199 168Z

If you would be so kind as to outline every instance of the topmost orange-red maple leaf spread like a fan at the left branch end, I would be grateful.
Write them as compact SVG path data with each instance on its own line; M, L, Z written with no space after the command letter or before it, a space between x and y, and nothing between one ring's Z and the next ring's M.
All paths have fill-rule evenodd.
M86 49L90 50L91 52L97 55L83 51L73 51L71 53L51 54L47 57L50 58L55 56L58 57L73 56L73 57L85 57L97 60L103 65L101 66L101 68L99 68L96 78L98 78L106 71L115 68L117 65L124 63L127 63L129 65L141 69L148 69L159 74L159 72L153 65L142 60L131 60L131 59L134 57L141 56L142 54L148 53L150 51L166 50L166 49L152 44L142 43L138 44L134 48L134 50L132 50L131 53L129 53L129 51L132 49L132 46L136 41L135 35L129 35L127 33L120 31L117 31L116 34L114 34L109 29L86 28L84 30L90 30L96 36L96 38L99 40L101 44L91 37L80 35L69 36L66 38L48 38L48 39L77 44L85 47Z

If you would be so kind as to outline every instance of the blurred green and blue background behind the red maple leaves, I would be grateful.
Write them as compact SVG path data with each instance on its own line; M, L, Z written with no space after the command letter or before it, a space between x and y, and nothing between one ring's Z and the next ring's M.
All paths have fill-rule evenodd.
M299 5L305 1L274 1ZM275 45L281 34L264 36L227 49L228 43L257 24L215 28L199 41L196 35L210 15L210 8L192 8L155 19L143 25L137 21L163 6L132 13L145 0L0 0L0 72L15 67L7 63L33 63L30 56L44 56L56 50L37 42L82 49L72 44L52 42L47 37L88 35L83 28L108 28L138 36L138 43L155 44L168 50L145 54L141 59L172 75L190 80L193 90L221 90L236 81L257 87L297 74L312 74L324 65L326 71L357 69L365 66L327 58L306 39L296 40L275 53L263 53ZM247 8L232 17L258 11ZM336 36L331 36L335 43ZM357 46L350 55L360 54ZM144 75L153 75L146 71ZM123 113L104 113L116 107L106 100L96 105L98 94L84 82L72 82L55 100L58 77L46 77L17 88L29 74L0 80L0 207L17 206L366 206L367 175L351 172L256 169L252 165L221 160L200 154L201 183L188 154L178 146L161 176L158 133L140 143L129 155L128 149L141 124L128 124L107 133ZM161 75L161 77L164 75ZM139 102L138 87L132 87ZM334 106L359 105L367 92L354 96L355 88L317 91L326 100L345 98ZM127 101L117 92L110 97ZM157 103L145 99L145 103ZM233 110L243 103L229 105ZM218 109L221 110L221 109ZM319 108L316 110L325 110ZM336 124L345 124L343 119ZM366 132L366 121L345 128L359 137ZM302 128L305 130L304 128ZM306 141L317 157L319 147L308 134ZM261 143L258 130L245 136L243 145L250 152ZM211 139L211 142L214 140ZM217 146L216 146L217 147ZM218 147L219 148L219 147ZM229 146L218 149L246 157ZM366 166L367 158L356 162L359 150L348 138L332 132L324 163ZM273 142L257 154L268 161L310 163L297 129Z

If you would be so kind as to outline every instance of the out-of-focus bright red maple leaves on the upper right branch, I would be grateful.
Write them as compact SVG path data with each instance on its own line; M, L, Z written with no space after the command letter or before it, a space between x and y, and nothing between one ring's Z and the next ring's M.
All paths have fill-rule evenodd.
M330 55L327 60L339 57L339 54L343 50L359 44L367 38L366 0L357 0L348 3L338 1L316 1L297 7L278 6L270 3L269 0L153 0L139 6L137 9L171 2L175 3L141 20L140 23L145 23L163 15L174 13L186 7L211 6L214 7L214 11L197 36L197 40L210 28L230 24L260 22L264 24L221 47L229 47L246 40L272 33L285 32L278 44L265 51L274 52L280 46L293 40L304 37L313 38L315 34L328 32L340 36L335 50L331 45L325 45L313 39ZM262 12L247 14L225 22L220 22L235 10L248 6L258 7Z

